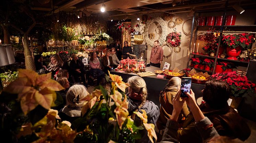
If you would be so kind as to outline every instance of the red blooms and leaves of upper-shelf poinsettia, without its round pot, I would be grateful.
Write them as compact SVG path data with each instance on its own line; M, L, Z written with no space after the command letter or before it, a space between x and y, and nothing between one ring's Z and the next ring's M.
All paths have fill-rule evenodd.
M222 41L232 48L241 46L243 50L246 50L255 42L255 36L249 33L228 34L223 35Z

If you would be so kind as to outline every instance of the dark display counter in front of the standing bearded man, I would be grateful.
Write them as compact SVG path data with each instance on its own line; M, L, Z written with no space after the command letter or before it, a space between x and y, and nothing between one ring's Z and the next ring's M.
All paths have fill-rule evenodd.
M160 68L153 67L153 66L150 66L150 67L146 68L146 71L151 71L153 73L154 73L154 70L160 70ZM131 73L127 73L127 72L120 73L118 71L115 71L115 69L110 71L110 73L121 76L123 78L124 82L127 82L128 78L131 77L131 76L136 76L136 75L139 76L138 74L133 73L133 72L131 72ZM159 94L160 94L160 91L162 91L163 88L165 87L165 85L168 83L169 79L167 79L167 78L164 78L164 79L157 78L156 75L146 76L146 77L142 77L142 78L144 79L144 81L147 84L147 89L148 89L148 98L147 98L147 100L153 101L156 105L160 106ZM201 90L204 87L205 87L205 85L192 83L191 89L195 92L196 99L198 97L202 96Z

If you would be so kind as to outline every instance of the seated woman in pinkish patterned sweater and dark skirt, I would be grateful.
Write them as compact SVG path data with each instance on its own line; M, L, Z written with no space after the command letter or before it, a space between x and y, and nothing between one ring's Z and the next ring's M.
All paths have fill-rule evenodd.
M97 85L100 84L101 79L105 76L104 72L101 69L100 60L97 58L97 54L93 52L91 58L89 59L90 64L90 74L93 78L97 78Z

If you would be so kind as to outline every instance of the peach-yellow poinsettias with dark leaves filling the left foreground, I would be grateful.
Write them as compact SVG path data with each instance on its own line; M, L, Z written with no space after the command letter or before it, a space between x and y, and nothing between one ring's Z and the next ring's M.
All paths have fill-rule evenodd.
M38 75L31 70L19 70L19 78L10 83L1 93L3 116L0 131L5 139L11 141L25 130L25 137L19 142L135 142L140 138L139 130L146 129L153 142L157 139L154 125L147 123L147 114L135 113L141 120L136 126L128 112L128 101L125 90L129 86L121 76L106 76L112 86L107 91L102 86L81 99L84 101L81 117L60 122L57 110L50 107L61 104L61 96L55 91L63 87L51 79L51 73ZM110 103L114 102L114 104ZM10 126L12 125L12 126Z

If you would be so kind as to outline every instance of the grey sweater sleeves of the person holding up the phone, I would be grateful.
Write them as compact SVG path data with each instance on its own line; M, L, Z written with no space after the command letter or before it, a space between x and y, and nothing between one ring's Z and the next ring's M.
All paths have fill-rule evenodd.
M195 124L197 131L203 139L203 143L209 142L209 140L215 136L219 136L216 129L210 126L211 124L211 121L207 117ZM161 143L178 143L177 130L178 123L173 120L168 120Z

